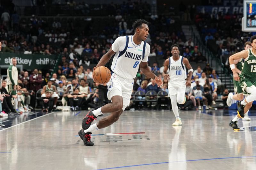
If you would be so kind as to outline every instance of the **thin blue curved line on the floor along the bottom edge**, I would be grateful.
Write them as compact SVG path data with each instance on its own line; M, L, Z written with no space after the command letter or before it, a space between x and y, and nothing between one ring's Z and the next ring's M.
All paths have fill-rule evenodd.
M157 162L157 163L151 163L151 164L139 164L139 165L117 166L117 167L103 168L103 169L96 169L96 170L107 170L107 169L117 169L117 168L127 168L127 167L134 167L134 166L157 165L157 164L167 164L167 163L192 162L192 161L200 161L200 160L234 159L234 158L253 158L253 157L256 157L256 156L240 156L240 157L209 158L209 159L191 159L191 160L181 160L181 161L173 161L173 162Z

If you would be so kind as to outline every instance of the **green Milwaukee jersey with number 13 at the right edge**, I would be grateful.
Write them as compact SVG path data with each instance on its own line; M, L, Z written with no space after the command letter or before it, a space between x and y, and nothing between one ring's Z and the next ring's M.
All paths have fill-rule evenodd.
M256 79L256 55L249 50L248 57L244 60L244 68L242 74L245 78Z

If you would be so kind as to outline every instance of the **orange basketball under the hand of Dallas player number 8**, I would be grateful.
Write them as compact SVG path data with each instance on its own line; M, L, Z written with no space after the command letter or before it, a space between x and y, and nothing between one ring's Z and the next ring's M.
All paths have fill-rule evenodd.
M107 67L97 67L93 72L95 82L100 84L108 83L111 78L111 72Z

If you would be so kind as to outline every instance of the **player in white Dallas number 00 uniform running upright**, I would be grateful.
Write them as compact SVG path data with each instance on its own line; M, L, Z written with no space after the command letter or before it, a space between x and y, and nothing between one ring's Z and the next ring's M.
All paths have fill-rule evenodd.
M181 125L182 122L177 102L179 104L186 102L185 90L186 86L190 87L191 85L191 77L194 70L189 64L188 59L180 55L178 45L173 44L171 50L172 56L164 62L163 76L169 79L169 97L172 103L172 111L176 117L176 121L172 125L178 126ZM188 78L185 66L188 69ZM167 74L168 69L170 69L169 74Z

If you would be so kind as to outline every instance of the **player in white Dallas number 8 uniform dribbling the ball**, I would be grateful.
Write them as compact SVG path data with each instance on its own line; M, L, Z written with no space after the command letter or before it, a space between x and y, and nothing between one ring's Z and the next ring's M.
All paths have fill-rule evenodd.
M134 35L118 37L109 51L102 56L97 66L93 69L94 71L95 68L104 66L108 63L111 56L114 55L111 65L113 74L107 84L108 99L111 100L111 103L98 109L91 109L82 121L83 129L78 132L86 146L94 145L91 142L92 132L116 122L125 107L129 106L134 82L133 78L136 77L139 67L146 76L155 80L158 87L163 84L162 80L148 68L147 62L150 46L145 42L149 31L148 22L138 19L132 24L132 28L135 32ZM91 125L92 121L103 113L111 114Z

